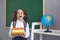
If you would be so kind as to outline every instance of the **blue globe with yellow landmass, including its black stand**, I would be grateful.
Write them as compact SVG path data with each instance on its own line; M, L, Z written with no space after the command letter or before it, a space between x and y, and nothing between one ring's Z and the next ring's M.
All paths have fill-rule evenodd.
M47 30L45 32L52 32L49 30L49 27L51 27L53 22L54 22L54 19L51 14L45 14L44 16L42 16L41 23L43 26L45 26L47 28Z

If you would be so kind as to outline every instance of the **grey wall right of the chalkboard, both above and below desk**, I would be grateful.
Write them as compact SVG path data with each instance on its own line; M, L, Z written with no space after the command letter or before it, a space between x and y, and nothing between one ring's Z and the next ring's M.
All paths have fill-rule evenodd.
M46 0L46 12L54 17L52 29L60 29L60 0ZM43 40L60 40L59 36L43 35Z

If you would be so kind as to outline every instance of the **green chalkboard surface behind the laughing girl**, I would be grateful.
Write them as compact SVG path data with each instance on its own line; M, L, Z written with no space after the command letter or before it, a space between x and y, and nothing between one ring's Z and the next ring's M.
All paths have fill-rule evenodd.
M29 25L40 21L43 15L43 0L6 0L6 27L10 27L13 12L22 8L27 11Z

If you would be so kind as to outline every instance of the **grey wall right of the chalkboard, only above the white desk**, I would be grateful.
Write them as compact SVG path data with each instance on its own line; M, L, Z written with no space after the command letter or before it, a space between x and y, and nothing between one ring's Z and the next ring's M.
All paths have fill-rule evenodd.
M60 0L46 0L46 12L54 17L53 29L60 29Z

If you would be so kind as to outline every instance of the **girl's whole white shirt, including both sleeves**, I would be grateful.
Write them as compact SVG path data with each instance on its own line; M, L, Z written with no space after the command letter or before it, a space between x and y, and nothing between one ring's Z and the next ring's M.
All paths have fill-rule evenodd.
M17 20L15 28L21 28L21 27L24 28L23 21ZM12 28L13 28L13 22L11 22L11 26L10 26L10 30L9 30L9 36L10 37L12 37L12 35L11 35ZM27 23L25 35L26 35L25 38L28 38L30 36L29 24L28 23Z

